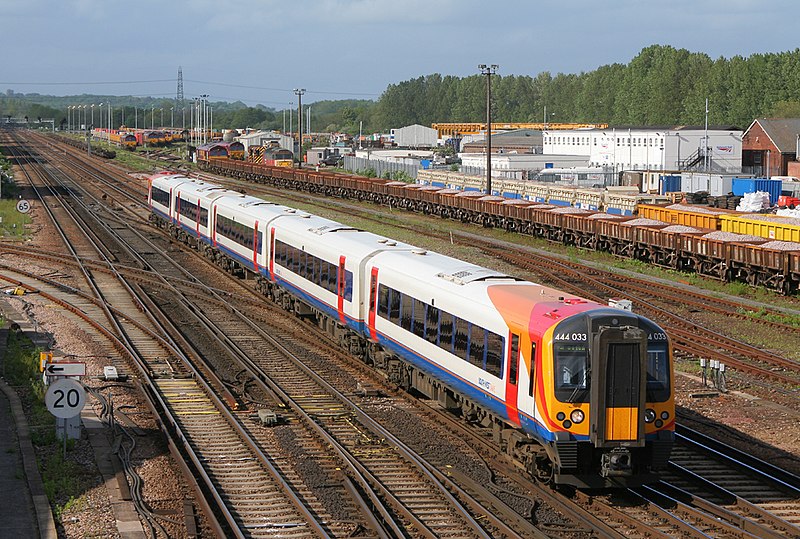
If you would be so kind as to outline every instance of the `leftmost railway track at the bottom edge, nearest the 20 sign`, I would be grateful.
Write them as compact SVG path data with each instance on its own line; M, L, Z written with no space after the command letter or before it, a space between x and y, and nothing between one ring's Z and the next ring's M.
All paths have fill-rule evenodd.
M33 167L33 170L37 168ZM50 181L41 176L42 182ZM37 181L32 176L29 179L31 186L39 191L39 187L35 186ZM77 213L67 211L67 206L75 199L60 198L59 190L55 188L50 189L50 196L61 201L56 206L63 213L50 213L51 221L61 231L60 235L67 249L74 253L75 260L100 258L101 255L97 253L102 253L104 249L88 240L72 243L74 231L65 230L66 225L61 224L72 222L80 228L79 223L83 223L83 230L89 226L81 221ZM45 200L44 197L41 200ZM97 228L103 226L100 222ZM105 261L111 264L107 256ZM112 333L119 335L119 339L124 341L124 347L134 360L138 374L160 408L166 430L176 434L182 441L181 449L185 457L194 463L195 471L204 483L206 495L217 502L217 511L223 515L228 532L224 532L219 523L212 524L212 528L220 534L232 533L236 537L274 536L276 530L284 531L288 528L294 530L292 536L296 537L329 536L329 532L317 522L303 501L287 488L286 480L275 473L269 459L259 454L257 444L239 427L222 400L203 382L200 373L191 368L187 359L167 339L157 338L157 344L154 344L153 336L163 334L159 331L162 328L154 324L153 318L144 314L146 309L134 299L136 294L124 280L119 275L111 277L99 273L95 276L85 267L83 269L87 281L94 285L93 290L106 311L106 318L115 326ZM115 312L122 313L122 316L117 318L108 306L113 306ZM142 331L142 326L156 327L148 334ZM176 384L180 390L176 390ZM187 395L191 395L190 400L187 400ZM194 404L187 408L189 402ZM215 429L216 435L213 437L207 435L209 425ZM238 447L239 451L247 453L240 455L241 461L228 461L226 466L219 456L230 455L232 447ZM252 473L229 473L231 464L241 467L245 462L251 466ZM249 496L246 495L248 492ZM259 503L252 503L254 497ZM272 512L272 507L277 511ZM215 517L211 512L207 513L209 514L206 516L213 522Z

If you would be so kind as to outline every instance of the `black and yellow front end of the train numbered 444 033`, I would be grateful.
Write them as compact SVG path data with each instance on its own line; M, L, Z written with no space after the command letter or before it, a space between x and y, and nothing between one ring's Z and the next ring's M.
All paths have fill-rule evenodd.
M553 380L545 399L555 431L549 446L555 482L604 488L657 480L675 425L664 331L637 315L603 309L557 324L552 339L552 370L544 375Z

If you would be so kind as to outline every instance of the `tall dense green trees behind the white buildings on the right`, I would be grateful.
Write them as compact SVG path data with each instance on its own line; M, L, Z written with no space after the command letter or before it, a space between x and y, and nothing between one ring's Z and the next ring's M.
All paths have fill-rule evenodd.
M502 68L502 66L501 66ZM710 58L652 45L627 65L580 74L492 77L499 122L702 125L747 128L757 117L800 117L800 49ZM475 122L486 117L486 77L428 75L390 85L376 104L379 125Z

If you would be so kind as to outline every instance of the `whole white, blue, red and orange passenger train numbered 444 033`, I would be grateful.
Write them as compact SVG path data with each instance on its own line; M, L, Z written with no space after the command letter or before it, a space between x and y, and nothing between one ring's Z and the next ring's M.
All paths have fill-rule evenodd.
M672 352L652 321L180 175L151 177L149 203L391 382L491 428L534 477L632 486L666 466Z

